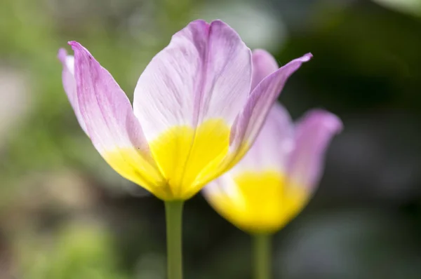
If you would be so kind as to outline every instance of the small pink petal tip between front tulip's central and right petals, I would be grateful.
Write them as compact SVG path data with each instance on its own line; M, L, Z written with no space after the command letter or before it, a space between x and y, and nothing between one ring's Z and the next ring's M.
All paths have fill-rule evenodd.
M266 50L253 50L253 78L251 80L251 89L253 90L260 81L279 69L275 58Z

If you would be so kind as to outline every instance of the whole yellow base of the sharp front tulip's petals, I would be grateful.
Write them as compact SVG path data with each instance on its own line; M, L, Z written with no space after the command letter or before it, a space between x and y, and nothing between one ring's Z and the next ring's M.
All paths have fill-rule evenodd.
M159 170L133 148L108 151L109 165L126 179L162 200L187 200L220 175L220 163L229 149L229 126L211 119L194 129L180 125L162 132L149 148Z

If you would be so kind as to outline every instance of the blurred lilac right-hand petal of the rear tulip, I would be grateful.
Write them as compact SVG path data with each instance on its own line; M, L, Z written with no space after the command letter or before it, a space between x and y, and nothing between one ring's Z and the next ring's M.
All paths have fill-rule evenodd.
M342 121L328 111L309 111L295 128L295 149L288 162L291 185L312 191L323 172L324 156L332 137L342 130Z

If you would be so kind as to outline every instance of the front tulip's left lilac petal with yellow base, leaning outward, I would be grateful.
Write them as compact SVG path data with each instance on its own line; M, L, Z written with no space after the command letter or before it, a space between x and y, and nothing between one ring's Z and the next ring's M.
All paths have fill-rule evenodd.
M165 198L166 182L152 161L128 97L86 48L75 41L69 44L79 109L95 148L121 176Z

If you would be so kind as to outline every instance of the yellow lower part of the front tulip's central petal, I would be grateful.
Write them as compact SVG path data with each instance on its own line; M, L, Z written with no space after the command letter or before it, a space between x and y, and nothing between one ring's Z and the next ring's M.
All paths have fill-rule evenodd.
M222 119L203 122L196 130L170 128L149 143L171 193L164 199L187 199L217 175L229 147L229 126Z

